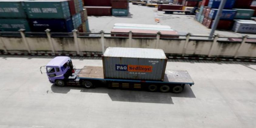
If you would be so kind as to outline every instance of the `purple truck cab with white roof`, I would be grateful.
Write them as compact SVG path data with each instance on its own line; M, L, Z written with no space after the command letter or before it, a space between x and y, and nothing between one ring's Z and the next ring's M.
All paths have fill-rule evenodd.
M46 74L51 83L64 85L64 80L72 74L73 64L70 57L57 56L46 65Z

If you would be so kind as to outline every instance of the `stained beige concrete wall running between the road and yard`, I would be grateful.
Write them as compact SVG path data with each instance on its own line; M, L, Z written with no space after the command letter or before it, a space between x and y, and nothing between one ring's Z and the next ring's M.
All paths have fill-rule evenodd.
M22 38L24 39L22 40ZM101 40L103 39L103 42ZM52 40L53 48L49 39ZM75 44L77 39L78 49ZM160 39L160 38L130 38L131 47L135 48L158 48L163 49L165 53L180 55L203 55L203 56L235 56L238 57L256 57L256 43L217 41L212 45L212 40L189 40L186 39ZM129 47L128 37L0 37L0 50L11 52L28 51L51 53L54 49L56 53L80 53L102 52L102 44L106 47ZM157 45L157 43L159 44ZM187 44L187 45L185 45ZM185 47L186 46L186 47ZM241 46L241 47L240 47ZM240 50L238 51L238 49ZM185 50L184 50L185 49ZM212 50L211 55L209 51Z

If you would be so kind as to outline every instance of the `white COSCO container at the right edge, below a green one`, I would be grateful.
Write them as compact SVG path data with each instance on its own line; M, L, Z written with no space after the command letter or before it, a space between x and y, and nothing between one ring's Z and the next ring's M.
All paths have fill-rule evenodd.
M234 32L256 33L256 22L236 21L232 30Z

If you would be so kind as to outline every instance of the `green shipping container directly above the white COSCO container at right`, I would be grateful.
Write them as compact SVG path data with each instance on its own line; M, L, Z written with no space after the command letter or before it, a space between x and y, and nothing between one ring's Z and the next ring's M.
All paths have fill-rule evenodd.
M251 19L254 14L252 9L234 9L237 11L235 19Z

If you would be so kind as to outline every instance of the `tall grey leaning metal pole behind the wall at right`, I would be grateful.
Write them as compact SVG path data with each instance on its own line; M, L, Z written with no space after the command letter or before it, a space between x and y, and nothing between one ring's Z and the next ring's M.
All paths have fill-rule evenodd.
M212 30L211 30L211 33L210 33L210 37L209 37L210 40L212 39L211 37L213 36L213 34L214 34L214 32L215 32L215 30L218 26L218 23L220 21L220 17L222 15L222 10L223 10L226 2L227 2L227 0L221 0L221 2L220 2L220 6L219 6L219 9L217 11L217 15L216 15L215 20L213 22L213 27L212 27Z

